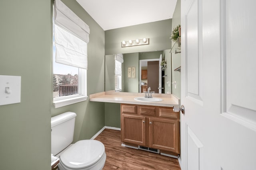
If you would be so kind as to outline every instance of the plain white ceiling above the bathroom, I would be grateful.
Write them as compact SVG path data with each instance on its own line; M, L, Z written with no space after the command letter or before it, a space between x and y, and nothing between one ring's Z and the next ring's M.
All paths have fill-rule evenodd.
M104 31L172 18L177 0L76 0Z

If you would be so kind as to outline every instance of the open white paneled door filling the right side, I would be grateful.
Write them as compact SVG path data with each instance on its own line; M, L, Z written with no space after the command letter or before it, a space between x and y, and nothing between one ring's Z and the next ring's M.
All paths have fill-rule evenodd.
M182 170L256 170L255 7L181 0Z

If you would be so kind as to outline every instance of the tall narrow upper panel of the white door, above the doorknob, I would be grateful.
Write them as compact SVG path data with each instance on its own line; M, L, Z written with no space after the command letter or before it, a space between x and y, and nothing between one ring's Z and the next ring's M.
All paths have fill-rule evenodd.
M200 29L202 19L200 17L200 0L190 1L185 14L186 31L186 96L195 102L202 104L202 80L200 77L202 68L202 31ZM200 31L200 32L199 32ZM189 54L189 56L188 56Z

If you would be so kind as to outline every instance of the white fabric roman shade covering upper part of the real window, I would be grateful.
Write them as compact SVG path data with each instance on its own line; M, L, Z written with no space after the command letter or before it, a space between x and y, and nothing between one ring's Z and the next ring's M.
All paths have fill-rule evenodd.
M87 69L89 26L60 0L54 3L56 62Z

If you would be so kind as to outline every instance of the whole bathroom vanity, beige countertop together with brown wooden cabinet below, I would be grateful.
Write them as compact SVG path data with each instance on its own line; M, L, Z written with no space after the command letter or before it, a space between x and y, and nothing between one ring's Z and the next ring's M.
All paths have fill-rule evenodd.
M142 102L134 98L141 93L101 92L90 95L90 101L120 103L121 141L135 147L161 154L180 154L180 113L173 107L179 100L171 94L154 94L160 102Z

